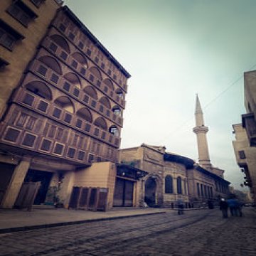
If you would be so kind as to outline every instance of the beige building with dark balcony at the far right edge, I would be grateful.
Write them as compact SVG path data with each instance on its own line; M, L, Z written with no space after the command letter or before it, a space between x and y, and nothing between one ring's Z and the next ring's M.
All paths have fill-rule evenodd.
M245 110L242 124L233 124L235 157L241 171L245 174L242 185L249 186L252 200L256 203L256 71L246 72Z

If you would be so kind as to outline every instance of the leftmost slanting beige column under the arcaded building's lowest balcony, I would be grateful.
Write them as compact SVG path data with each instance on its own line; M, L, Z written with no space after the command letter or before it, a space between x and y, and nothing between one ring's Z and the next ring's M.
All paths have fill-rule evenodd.
M11 176L11 181L6 189L6 193L1 203L1 208L14 207L14 203L16 202L16 198L18 197L18 193L27 174L30 162L31 159L29 158L22 159L14 169L14 174Z

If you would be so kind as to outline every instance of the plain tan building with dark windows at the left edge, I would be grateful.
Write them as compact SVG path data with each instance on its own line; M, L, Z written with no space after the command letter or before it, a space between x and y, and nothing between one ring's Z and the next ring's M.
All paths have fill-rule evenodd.
M36 53L38 43L48 30L60 1L3 0L0 2L0 134L11 105L9 99ZM0 146L0 206L20 158L3 144ZM16 149L18 149L16 147ZM11 196L11 194L9 194ZM16 195L14 195L14 198ZM10 201L11 199L7 199ZM14 199L13 199L14 200ZM6 205L6 203L4 203Z

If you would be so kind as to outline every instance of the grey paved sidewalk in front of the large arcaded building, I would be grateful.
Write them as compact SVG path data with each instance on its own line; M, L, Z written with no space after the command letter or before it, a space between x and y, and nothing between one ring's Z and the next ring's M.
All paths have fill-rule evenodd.
M129 218L139 215L166 213L159 208L114 208L107 212L67 210L60 208L28 210L0 209L0 233L10 233L60 225L87 223L99 220Z

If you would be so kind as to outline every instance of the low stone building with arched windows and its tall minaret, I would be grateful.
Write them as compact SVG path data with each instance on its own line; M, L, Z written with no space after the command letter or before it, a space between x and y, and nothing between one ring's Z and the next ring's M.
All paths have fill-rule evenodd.
M192 159L166 151L164 146L141 146L120 149L119 161L135 166L148 174L139 181L137 204L144 201L149 206L176 207L178 201L184 206L197 207L227 198L229 184L223 178L224 171L210 164L203 112L196 97L196 127L198 138L198 164ZM122 188L120 188L122 191Z

